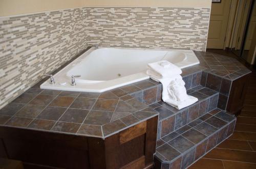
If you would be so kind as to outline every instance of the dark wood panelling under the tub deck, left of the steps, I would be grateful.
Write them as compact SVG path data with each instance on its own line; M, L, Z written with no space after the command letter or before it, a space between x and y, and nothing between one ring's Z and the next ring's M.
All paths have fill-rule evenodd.
M148 168L153 166L157 123L158 116L105 139L2 126L0 150L5 145L6 151L0 155L32 168L136 168L142 159Z

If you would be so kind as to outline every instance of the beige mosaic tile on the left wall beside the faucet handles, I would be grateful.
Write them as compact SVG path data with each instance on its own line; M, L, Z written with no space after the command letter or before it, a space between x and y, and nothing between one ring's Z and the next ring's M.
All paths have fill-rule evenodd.
M87 47L86 9L0 18L0 108Z

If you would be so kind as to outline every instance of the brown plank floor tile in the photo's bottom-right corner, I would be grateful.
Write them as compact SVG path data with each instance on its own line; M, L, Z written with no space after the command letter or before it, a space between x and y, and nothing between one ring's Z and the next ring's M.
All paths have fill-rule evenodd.
M237 161L225 161L223 160L225 169L255 169L255 163L237 162Z

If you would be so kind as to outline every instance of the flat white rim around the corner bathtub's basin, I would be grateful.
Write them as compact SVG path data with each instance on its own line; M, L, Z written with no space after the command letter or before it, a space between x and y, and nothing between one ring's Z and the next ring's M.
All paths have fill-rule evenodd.
M196 56L196 54L194 53L193 50L179 50L179 49L145 49L145 48L125 48L125 47L98 47L98 49L128 49L128 50L152 50L152 51L175 51L175 52L182 52L185 55L193 55L194 58L197 61L194 63L189 62L191 59L191 57L188 57L187 60L183 61L182 63L187 63L189 64L189 66L180 66L181 69L186 68L186 67L190 67L190 66L194 66L194 65L198 65L200 62ZM49 79L47 79L44 83L42 83L40 85L41 89L51 89L51 90L63 90L63 91L80 91L80 92L104 92L104 91L108 91L108 90L112 90L121 86L125 86L125 85L129 85L132 83L136 83L142 80L146 80L146 79L150 79L150 76L146 75L145 71L139 72L137 74L132 74L129 76L125 76L125 77L121 77L121 78L116 78L113 80L108 80L108 81L102 81L102 82L96 82L96 83L77 83L76 86L72 86L70 84L71 79L68 79L67 75L63 75L63 71L66 70L67 71L70 70L71 66L74 65L75 62L78 62L80 60L83 60L85 57L87 57L88 55L90 55L90 53L92 53L94 50L97 50L95 47L91 47L89 50L87 50L86 52L82 53L80 56L78 56L76 59L74 59L71 63L69 63L67 66L63 67L61 70L59 70L57 73L55 73L53 75L53 77L55 79L58 79L58 76L62 77L65 76L65 81L66 81L66 85L60 85L58 82L56 81L55 84L50 84L49 83ZM176 65L179 65L179 63L177 63ZM56 78L57 77L57 78ZM124 81L124 82L122 82ZM104 83L104 84L103 84Z

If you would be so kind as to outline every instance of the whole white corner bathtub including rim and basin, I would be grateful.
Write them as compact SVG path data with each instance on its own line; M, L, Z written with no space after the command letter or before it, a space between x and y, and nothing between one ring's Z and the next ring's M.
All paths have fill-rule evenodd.
M92 47L53 76L40 88L67 91L103 92L123 85L148 79L147 64L167 60L180 68L199 64L195 53L190 50L151 50ZM71 76L76 85L71 85ZM65 84L66 83L66 84Z

